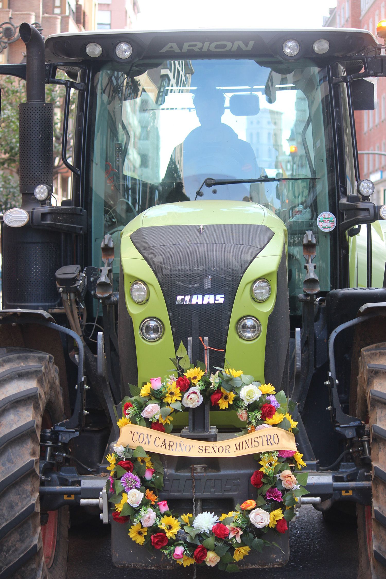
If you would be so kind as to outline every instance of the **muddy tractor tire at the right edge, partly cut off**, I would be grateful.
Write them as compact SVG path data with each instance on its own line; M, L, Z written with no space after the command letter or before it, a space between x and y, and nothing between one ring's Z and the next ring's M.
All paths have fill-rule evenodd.
M357 416L369 422L372 506L357 505L358 579L386 579L386 343L359 358Z

